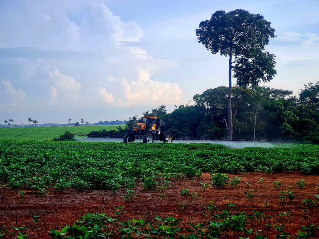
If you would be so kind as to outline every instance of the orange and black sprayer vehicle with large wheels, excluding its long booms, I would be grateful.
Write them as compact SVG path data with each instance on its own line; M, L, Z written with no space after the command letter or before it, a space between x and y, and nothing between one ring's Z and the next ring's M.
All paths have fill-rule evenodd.
M133 126L133 130L124 136L124 143L133 143L135 138L143 138L143 143L152 143L154 140L171 143L173 135L165 132L165 122L157 117L143 116Z

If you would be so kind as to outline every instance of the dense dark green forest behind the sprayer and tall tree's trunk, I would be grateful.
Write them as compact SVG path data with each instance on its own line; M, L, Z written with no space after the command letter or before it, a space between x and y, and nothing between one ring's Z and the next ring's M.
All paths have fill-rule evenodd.
M273 141L319 143L319 81L292 91L265 86L234 87L232 91L233 137L270 138ZM175 105L167 113L164 105L143 115L166 122L173 134L227 136L228 87L208 89L193 98L195 105ZM127 125L138 120L130 117Z

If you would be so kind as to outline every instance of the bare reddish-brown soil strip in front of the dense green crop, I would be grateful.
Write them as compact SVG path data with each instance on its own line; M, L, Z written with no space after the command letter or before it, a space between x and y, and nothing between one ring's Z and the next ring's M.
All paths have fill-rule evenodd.
M125 189L119 190L115 195L112 191L57 191L48 190L47 195L40 195L35 192L25 191L26 197L21 200L17 191L2 188L0 189L0 229L6 229L6 238L15 238L11 235L10 227L28 228L25 233L30 238L50 238L48 232L51 228L61 229L65 225L73 225L81 216L87 213L107 213L113 218L114 206L125 206L124 214L119 218L121 221L131 219L144 219L154 221L153 218L174 216L182 218L182 226L188 227L189 222L200 223L208 220L210 213L206 210L209 201L214 201L220 212L222 209L229 209L227 203L235 204L240 211L251 214L251 211L263 211L268 217L267 222L271 225L282 224L283 217L279 214L290 213L285 216L286 232L297 233L301 225L309 223L319 224L319 207L308 209L303 205L303 199L315 199L314 194L319 194L316 186L319 184L319 176L302 175L300 172L274 173L245 173L228 174L228 177L242 177L236 188L227 185L226 189L209 187L206 192L201 190L197 180L182 180L172 182L172 186L165 191L156 190L151 192L137 185L133 190L136 198L132 201L124 201L122 195ZM263 183L258 182L263 178ZM307 185L304 189L298 188L294 183L305 179ZM282 186L277 191L273 188L272 182L279 180ZM210 174L203 174L200 182L211 183ZM246 183L247 182L247 183ZM249 183L249 184L248 184ZM289 186L293 189L289 189ZM244 195L245 189L252 188L256 192L253 202L250 202ZM183 197L179 193L182 189L188 189L190 193L197 192L198 198ZM280 202L278 194L281 191L292 190L297 199L293 202ZM184 210L181 204L187 205ZM308 209L308 212L302 211ZM34 223L32 215L38 215L40 221ZM256 230L265 230L264 222L249 226ZM275 238L276 233L269 234L269 238ZM230 237L232 238L232 237ZM250 238L255 238L251 236ZM293 235L291 238L294 238ZM318 238L318 237L317 237Z

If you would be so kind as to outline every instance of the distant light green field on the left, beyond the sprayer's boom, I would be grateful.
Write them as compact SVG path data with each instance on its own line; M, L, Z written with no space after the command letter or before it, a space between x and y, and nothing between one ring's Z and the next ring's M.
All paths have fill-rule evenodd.
M65 131L88 134L93 130L112 130L116 129L118 126L125 127L126 125L0 128L0 139L52 140L53 138L64 134Z

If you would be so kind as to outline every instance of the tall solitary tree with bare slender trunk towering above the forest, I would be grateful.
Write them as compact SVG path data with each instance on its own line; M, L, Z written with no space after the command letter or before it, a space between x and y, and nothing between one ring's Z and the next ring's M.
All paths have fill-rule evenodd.
M264 47L269 38L275 37L274 32L263 16L241 9L227 13L216 11L211 19L202 21L196 29L198 42L203 43L207 50L229 57L228 138L233 137L232 70L234 68L234 77L242 87L270 81L276 74L275 55L264 51Z

